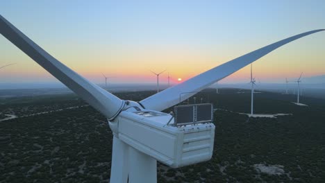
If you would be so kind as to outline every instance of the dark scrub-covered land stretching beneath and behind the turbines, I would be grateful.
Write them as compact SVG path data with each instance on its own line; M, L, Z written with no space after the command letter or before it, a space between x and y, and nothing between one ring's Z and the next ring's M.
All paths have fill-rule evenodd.
M215 148L208 162L169 168L158 182L323 182L325 100L263 92L255 111L289 114L249 118L250 94L207 89ZM140 101L154 92L123 92ZM185 101L187 102L187 101ZM190 98L193 103L193 98ZM0 182L108 182L113 135L104 116L74 94L0 99ZM169 112L172 109L166 110Z

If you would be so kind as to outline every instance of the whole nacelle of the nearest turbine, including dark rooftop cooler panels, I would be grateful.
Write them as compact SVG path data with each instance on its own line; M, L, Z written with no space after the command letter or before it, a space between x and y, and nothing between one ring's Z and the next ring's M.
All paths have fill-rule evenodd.
M134 102L133 102L134 104ZM213 105L177 105L174 114L128 107L111 121L115 135L159 162L178 168L211 159Z

